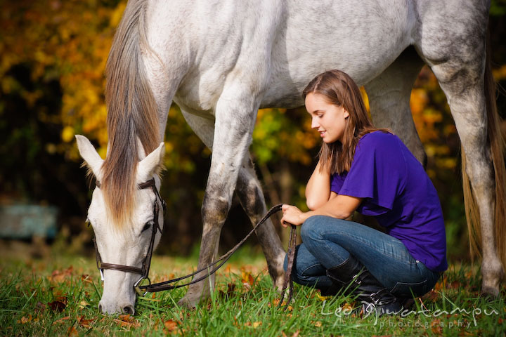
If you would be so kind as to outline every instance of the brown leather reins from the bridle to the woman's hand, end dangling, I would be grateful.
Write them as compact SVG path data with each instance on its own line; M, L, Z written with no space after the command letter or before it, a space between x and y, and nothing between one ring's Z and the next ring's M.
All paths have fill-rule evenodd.
M219 268L226 263L226 261L228 260L228 258L230 258L232 256L233 253L235 253L235 251L237 251L237 249L243 244L245 243L245 241L253 234L253 232L255 230L257 230L257 228L262 224L262 223L265 223L266 220L268 218L270 218L274 213L277 213L278 211L281 210L281 206L283 206L283 204L278 204L278 205L275 205L273 206L271 209L268 210L268 212L266 213L266 215L264 216L264 218L261 218L261 220L257 223L257 225L254 225L253 229L246 235L246 237L244 239L242 239L238 244L236 244L235 246L233 246L233 248L226 252L225 254L223 254L218 260L214 261L214 263L211 263L210 265L207 265L206 267L203 267L195 272L192 272L191 274L188 274L188 275L185 275L183 277L178 277L176 279L169 279L168 281L164 281L164 282L158 282L158 283L154 283L154 284L147 284L145 286L139 286L138 288L145 291L146 293L155 293L155 292L158 292L158 291L164 291L164 290L171 290L171 289L177 289L177 288L181 288L183 286L189 286L190 284L194 284L194 283L197 283L197 282L200 282L202 281L202 279L206 279L207 277L213 275L216 270L219 270ZM285 272L285 280L283 282L283 290L281 292L281 298L280 298L280 301L279 301L279 304L278 304L278 308L280 308L280 305L281 303L283 303L283 298L285 297L285 291L287 289L287 286L288 284L290 284L290 290L289 290L289 296L288 296L288 299L287 299L287 303L285 305L285 310L287 310L288 308L288 304L290 303L290 301L292 300L292 297L293 297L293 282L292 282L292 266L293 266L293 262L294 262L294 257L295 257L295 244L296 244L296 238L297 238L297 231L296 231L296 227L292 224L290 224L290 226L292 227L291 229L291 232L290 232L290 241L288 242L288 265L287 265L287 270ZM221 262L221 263L220 263ZM218 264L216 267L214 267L214 265ZM212 270L209 271L209 269L211 267L214 267ZM208 270L209 272L207 273L207 275L204 275L202 277L198 277L197 279L193 279L191 282L188 282L186 284L178 284L178 285L172 285L171 283L175 283L175 282L178 282L178 281L181 281L181 279L187 279L188 277L190 276L194 276L194 275L197 275L199 272L202 272L204 270Z

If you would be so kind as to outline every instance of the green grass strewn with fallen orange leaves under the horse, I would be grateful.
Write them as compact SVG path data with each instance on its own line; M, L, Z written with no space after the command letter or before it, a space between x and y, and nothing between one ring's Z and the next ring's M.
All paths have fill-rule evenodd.
M480 298L479 275L468 265L452 265L409 315L377 318L351 314L350 298L323 300L318 291L298 285L290 308L278 310L266 264L252 252L239 251L223 267L212 298L196 310L176 304L183 288L139 298L134 317L100 315L102 289L91 257L34 260L2 252L0 336L504 336L506 331L505 301ZM155 256L151 273L157 282L186 274L196 263ZM243 284L251 282L249 275L252 286Z

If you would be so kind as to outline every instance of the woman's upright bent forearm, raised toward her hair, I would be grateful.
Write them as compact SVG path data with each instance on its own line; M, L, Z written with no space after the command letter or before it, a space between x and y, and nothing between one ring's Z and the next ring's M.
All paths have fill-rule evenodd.
M306 185L306 205L311 211L323 206L330 199L330 172L320 171L320 161L316 165Z

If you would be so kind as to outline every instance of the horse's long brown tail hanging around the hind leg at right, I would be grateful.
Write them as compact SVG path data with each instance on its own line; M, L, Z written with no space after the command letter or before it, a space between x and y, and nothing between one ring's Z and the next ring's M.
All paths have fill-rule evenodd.
M485 99L487 112L488 145L495 175L495 247L502 266L506 269L506 168L505 168L505 140L500 131L501 119L495 103L495 81L491 69L491 45L487 37L486 65L485 65ZM469 177L465 171L465 153L462 150L462 185L464 190L464 203L469 232L469 248L471 255L480 255L481 225L476 199L472 195Z

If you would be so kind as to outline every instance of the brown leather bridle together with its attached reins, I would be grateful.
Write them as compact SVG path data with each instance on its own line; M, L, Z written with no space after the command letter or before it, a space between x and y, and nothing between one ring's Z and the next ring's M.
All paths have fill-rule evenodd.
M96 182L96 185L98 188L100 188L100 183L98 183L98 181ZM266 220L268 218L270 218L274 213L277 213L278 211L280 211L281 206L283 206L283 204L278 204L278 205L273 206L271 209L269 209L268 212L266 213L266 215L263 218L261 218L261 220L257 223L257 225L254 225L252 230L246 235L246 237L244 239L242 239L238 244L233 246L233 248L230 251L223 254L220 258L218 258L218 260L215 260L210 265L207 265L206 267L196 270L195 272L192 272L191 274L185 275L183 277L178 277L176 279L169 279L168 281L151 284L151 280L149 278L149 270L150 270L150 265L151 265L151 258L153 257L153 249L155 248L155 237L156 237L156 234L158 231L160 231L160 234L162 234L162 229L160 228L160 224L158 222L158 214L160 211L160 206L158 206L158 200L160 200L160 202L162 204L164 216L165 216L165 211L167 209L167 206L165 204L165 201L162 199L162 197L160 197L160 192L158 192L158 190L157 190L154 178L146 181L145 183L138 185L138 188L140 190L143 190L148 187L151 187L153 189L153 193L155 193L156 199L155 199L155 205L153 206L153 230L151 232L151 240L150 240L150 244L148 246L148 252L146 253L145 258L143 259L142 267L133 267L133 266L129 266L129 265L117 265L115 263L104 263L102 261L101 256L100 256L100 252L98 251L96 240L93 238L93 244L95 245L96 265L97 265L97 268L100 272L100 278L102 279L102 282L104 280L103 270L105 270L105 269L119 270L122 272L133 272L134 274L141 275L141 277L138 279L138 281L136 281L134 283L134 289L135 289L136 293L138 293L139 296L145 296L146 293L155 293L158 291L171 290L171 289L181 288L183 286L189 286L190 284L200 282L200 281L202 281L202 279L206 279L207 277L213 275L216 272L216 270L219 270L219 268L223 264L226 263L228 258L230 258L232 256L232 254L235 253L235 251L237 251L238 248L246 242L246 240L254 233L255 230L257 230L257 228L261 224L265 223ZM294 257L295 257L295 244L297 241L296 227L292 224L290 224L290 226L291 226L291 231L290 231L290 241L288 243L288 252L287 252L287 254L288 254L287 270L285 272L285 280L283 282L283 289L281 291L281 298L278 303L278 308L279 308L281 306L281 304L283 303L283 298L285 296L286 289L288 288L288 285L290 284L289 296L287 299L287 303L285 304L285 310L288 308L288 303L290 303L290 301L292 300L292 297L293 297L293 282L292 282L291 275L292 275L292 266L293 266ZM207 270L206 275L204 275L202 277L197 277L196 279L193 279L191 282L188 282L185 284L173 284L173 283L181 281L182 279L187 279L188 277L192 277L194 275L197 275L198 273L203 272L204 270ZM141 282L143 281L143 279L147 279L148 284L140 285Z

